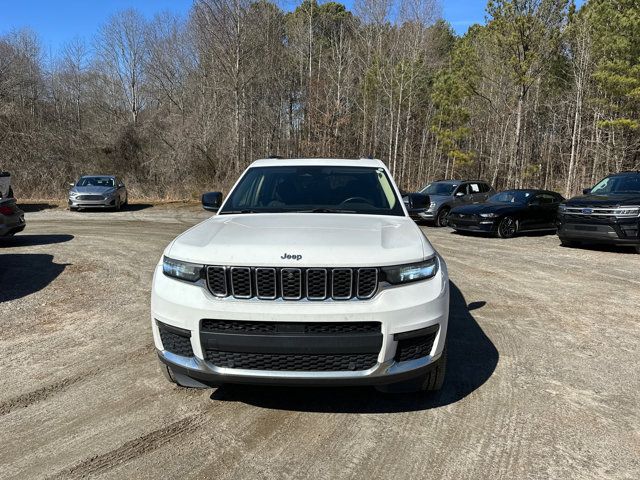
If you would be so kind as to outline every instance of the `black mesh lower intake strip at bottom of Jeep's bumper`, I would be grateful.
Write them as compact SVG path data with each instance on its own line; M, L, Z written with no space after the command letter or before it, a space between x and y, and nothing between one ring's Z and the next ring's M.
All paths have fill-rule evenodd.
M208 362L218 367L293 372L338 372L367 370L378 361L377 353L283 354L205 350Z

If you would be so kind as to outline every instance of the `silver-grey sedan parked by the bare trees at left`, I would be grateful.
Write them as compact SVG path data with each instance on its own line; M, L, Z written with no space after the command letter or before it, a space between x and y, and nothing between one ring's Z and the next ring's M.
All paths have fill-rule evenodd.
M115 208L129 202L127 187L113 175L88 175L71 183L69 210L81 208Z

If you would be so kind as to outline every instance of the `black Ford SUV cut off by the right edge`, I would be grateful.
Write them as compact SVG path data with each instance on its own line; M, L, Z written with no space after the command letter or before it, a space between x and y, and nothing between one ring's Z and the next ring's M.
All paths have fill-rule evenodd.
M640 172L609 175L560 205L558 237L564 246L608 243L640 253Z

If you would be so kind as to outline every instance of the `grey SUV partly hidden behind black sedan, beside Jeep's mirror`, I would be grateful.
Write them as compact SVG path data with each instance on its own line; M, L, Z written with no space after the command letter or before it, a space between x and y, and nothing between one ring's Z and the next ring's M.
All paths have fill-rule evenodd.
M426 185L418 193L426 195L427 208L412 208L404 197L405 206L414 220L434 222L437 227L447 225L447 217L458 205L484 202L495 193L486 182L480 180L438 180Z

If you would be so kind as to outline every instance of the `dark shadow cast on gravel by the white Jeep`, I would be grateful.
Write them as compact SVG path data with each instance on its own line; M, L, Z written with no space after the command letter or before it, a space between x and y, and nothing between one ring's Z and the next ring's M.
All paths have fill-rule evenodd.
M229 385L212 400L262 408L330 413L394 413L455 403L480 388L493 374L499 353L471 314L485 302L467 302L451 282L448 361L444 386L435 394L383 394L372 387L297 388Z

